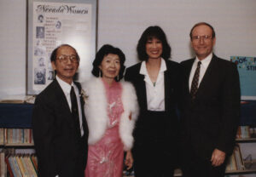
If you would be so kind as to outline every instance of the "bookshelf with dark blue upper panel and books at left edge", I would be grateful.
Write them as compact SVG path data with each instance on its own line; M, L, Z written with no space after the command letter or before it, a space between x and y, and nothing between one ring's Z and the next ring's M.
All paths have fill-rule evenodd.
M0 104L1 176L37 176L32 107L29 104Z

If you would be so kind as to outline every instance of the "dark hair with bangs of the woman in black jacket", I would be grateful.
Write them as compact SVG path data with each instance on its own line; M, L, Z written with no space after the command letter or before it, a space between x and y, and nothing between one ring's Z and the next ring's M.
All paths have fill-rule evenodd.
M171 47L166 39L165 32L160 28L160 26L149 26L137 43L137 55L139 60L148 60L148 54L146 52L146 43L149 39L157 38L162 42L163 53L161 57L164 60L168 60L171 57Z

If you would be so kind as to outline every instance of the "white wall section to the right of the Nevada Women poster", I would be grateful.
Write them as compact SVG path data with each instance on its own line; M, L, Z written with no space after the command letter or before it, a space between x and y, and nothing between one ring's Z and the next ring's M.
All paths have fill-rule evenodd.
M191 57L189 31L207 21L217 33L216 54L256 55L256 1L254 0L100 0L99 45L112 43L124 50L127 66L135 63L136 45L148 26L166 32L172 60Z

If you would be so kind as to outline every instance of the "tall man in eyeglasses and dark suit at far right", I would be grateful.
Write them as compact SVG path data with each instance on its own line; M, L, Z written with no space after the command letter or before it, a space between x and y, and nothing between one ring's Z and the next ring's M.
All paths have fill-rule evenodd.
M240 117L239 75L236 64L212 53L211 25L193 26L190 41L196 56L181 63L183 177L223 177Z

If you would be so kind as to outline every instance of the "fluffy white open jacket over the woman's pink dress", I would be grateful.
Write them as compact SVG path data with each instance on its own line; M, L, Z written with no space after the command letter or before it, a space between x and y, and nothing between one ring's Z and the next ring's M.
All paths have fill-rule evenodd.
M124 150L131 150L133 145L132 131L138 116L138 104L135 88L131 83L120 82L122 85L122 103L124 112L120 117L119 135L124 144ZM89 128L89 145L101 140L108 126L108 102L104 83L101 78L93 77L82 84L85 94L84 113ZM131 114L131 119L129 118Z

